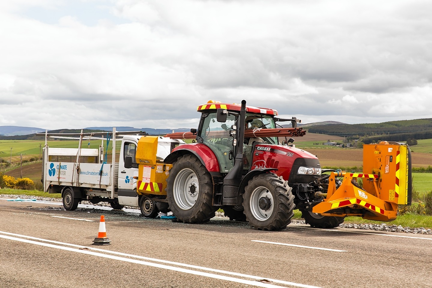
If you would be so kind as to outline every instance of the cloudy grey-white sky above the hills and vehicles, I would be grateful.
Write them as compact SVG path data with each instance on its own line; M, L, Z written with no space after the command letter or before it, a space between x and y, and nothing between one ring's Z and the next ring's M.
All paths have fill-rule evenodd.
M196 127L212 99L302 123L432 117L432 1L0 2L0 126Z

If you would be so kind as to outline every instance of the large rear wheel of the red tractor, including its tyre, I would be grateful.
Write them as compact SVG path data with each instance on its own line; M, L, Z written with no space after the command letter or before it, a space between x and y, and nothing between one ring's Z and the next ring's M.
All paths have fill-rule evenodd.
M184 155L173 163L167 179L167 199L178 222L204 223L215 216L212 179L195 156Z

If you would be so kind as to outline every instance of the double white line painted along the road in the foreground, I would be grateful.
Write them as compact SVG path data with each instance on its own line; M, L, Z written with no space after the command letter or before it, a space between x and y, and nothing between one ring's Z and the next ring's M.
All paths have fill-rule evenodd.
M77 247L77 248L81 248L81 249L85 248L86 250L95 250L95 251L99 251L99 252L103 252L103 253L110 253L110 254L115 254L115 255L133 257L133 258L138 258L138 259L144 259L144 260L149 260L149 261L154 261L154 262L172 264L172 265L176 265L176 266L184 266L184 267L188 267L188 268L194 268L194 269L200 269L200 270L205 270L205 271L217 272L217 273L222 273L222 274L229 274L229 275L232 275L232 276L238 276L238 277L244 277L244 278L250 278L250 279L256 279L256 280L266 279L266 280L269 280L269 281L274 282L274 283L279 283L279 284L284 284L284 285L290 285L290 286L295 286L295 287L321 288L321 287L318 287L318 286L300 284L300 283L295 283L295 282L283 281L283 280L278 280L278 279L271 279L271 278L254 276L254 275L248 275L248 274L241 274L241 273L236 273L236 272L230 272L230 271L225 271L225 270L207 268L207 267L203 267L203 266L196 266L196 265L178 263L178 262L173 262L173 261L168 261L168 260L161 260L161 259L156 259L156 258L149 258L149 257L144 257L144 256L139 256L139 255L133 255L133 254L121 253L121 252L110 251L110 250L105 250L105 249L99 249L99 248L94 248L94 247L87 247L87 246L81 246L81 245L76 245L76 244L70 244L70 243L64 243L64 242L58 242L58 241L52 241L52 240L41 239L41 238L36 238L36 237L32 237L32 236L25 236L25 235L20 235L20 234L14 234L14 233L9 233L9 232L4 232L4 231L0 231L0 234L13 235L13 236L24 237L24 238L28 238L28 239L37 240L37 241L44 241L44 242L48 242L48 243L55 243L55 244L67 245L67 246L71 246L71 247ZM13 238L11 240L22 241L22 242L30 241L30 240L15 238L15 237L8 237L6 235L5 236L0 235L0 237L2 237L2 238L7 237L6 239ZM32 244L37 244L37 245L41 245L41 246L51 245L51 244L44 245L45 243L35 242L35 241L31 241L31 242L34 242ZM28 242L28 243L30 243L30 242ZM71 251L74 251L74 252L85 253L85 252L83 252L85 250L77 250L77 249L73 249L73 248L61 247L61 246L56 246L56 245L51 245L51 246L53 246L54 248L58 248L58 249L63 249L63 248L64 248L63 250L72 249ZM51 246L47 246L47 247L51 247ZM91 251L87 251L87 252L91 252ZM90 253L87 253L87 254L90 254ZM100 254L100 253L97 253L97 254ZM101 255L104 255L104 254L101 254ZM99 255L96 255L96 256L99 256ZM101 256L101 257L104 257L104 256ZM111 257L116 257L116 256L111 256ZM110 255L105 255L105 258L111 258L111 257L110 257ZM121 258L121 259L118 259L118 260L127 259L127 258L123 258L123 257L117 257L117 258ZM117 258L111 258L111 259L117 259ZM127 260L124 260L124 261L127 261ZM139 260L136 260L136 261L139 261ZM133 261L127 261L127 262L135 263ZM140 261L140 262L143 262L143 263L139 263L139 262L137 262L137 263L138 264L143 264L143 265L148 265L148 266L159 267L159 266L156 266L156 265L159 265L159 264L156 264L156 263L148 263L148 262L145 262L145 261ZM154 264L154 265L152 265L152 264ZM162 266L165 266L165 265L162 265ZM165 267L160 267L160 268L165 268L165 269L175 270L175 271L179 271L179 272L184 272L184 271L177 270L177 269L181 269L181 268L172 267L172 266L167 266L167 267L170 267L171 269L170 268L165 268ZM175 269L175 268L177 268L177 269ZM222 278L219 278L219 277L232 278L232 277L226 277L226 276L222 276L222 275L215 275L215 274L211 274L211 273L199 272L199 271L188 270L188 269L182 269L182 270L190 271L190 272L185 272L185 273L189 273L189 274L195 274L194 272L197 272L196 275L201 275L201 274L198 274L198 273L204 273L204 274L208 274L208 275L213 275L214 277L208 276L208 275L203 275L203 276L210 277L210 278L216 278L216 279L222 279ZM219 276L219 277L217 277L217 276ZM238 283L244 283L244 282L239 282L239 281L236 281L236 280L248 281L250 283L244 283L244 284L250 284L250 285L259 286L259 287L270 287L270 288L277 288L277 287L280 288L280 287L283 287L283 286L271 285L271 284L266 284L266 283L257 283L256 281L249 281L249 280L243 280L243 279L238 279L238 278L232 278L232 279L234 279L234 280L228 280L228 281L233 281L233 282L238 282ZM226 279L222 279L222 280L226 280Z

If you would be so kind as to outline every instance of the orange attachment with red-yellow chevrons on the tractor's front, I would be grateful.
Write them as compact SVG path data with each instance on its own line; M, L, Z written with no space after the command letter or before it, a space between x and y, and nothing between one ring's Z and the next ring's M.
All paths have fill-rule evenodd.
M364 173L331 172L327 193L312 212L393 221L398 205L411 205L411 156L407 145L381 141L363 146ZM343 177L338 183L338 177ZM359 180L361 179L361 180Z

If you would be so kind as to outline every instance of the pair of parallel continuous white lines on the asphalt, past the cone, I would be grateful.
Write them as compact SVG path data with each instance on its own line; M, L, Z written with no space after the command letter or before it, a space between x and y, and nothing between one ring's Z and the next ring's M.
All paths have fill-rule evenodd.
M12 237L12 236L16 236L16 237ZM20 238L18 238L18 237L20 237ZM13 241L19 241L19 242L23 242L23 243L35 244L35 245L54 248L54 249L66 250L66 251L75 252L75 253L82 253L82 254L88 254L88 255L93 255L93 256L99 256L99 257L103 257L103 258L109 258L109 259L113 259L113 260L129 262L129 263L152 266L152 267L156 267L156 268L167 269L167 270L172 270L172 271L177 271L177 272L182 272L182 273L187 273L187 274L192 274L192 275L198 275L198 276L203 276L203 277L208 277L208 278L213 278L213 279L225 280L225 281L229 281L229 282L242 283L245 285L252 285L252 286L256 286L256 287L266 287L266 288L287 287L287 286L280 286L280 285L262 283L262 282L257 281L257 280L260 280L260 281L261 280L267 280L267 281L270 281L273 283L288 285L291 287L294 286L294 287L302 287L302 288L320 288L318 286L311 286L311 285L289 282L289 281L283 281L283 280L278 280L278 279L270 279L270 278L266 278L266 277L259 277L259 276L241 274L241 273L230 272L230 271L225 271L225 270L212 269L212 268L207 268L207 267L203 267L203 266L195 266L195 265L172 262L172 261L161 260L161 259L156 259L156 258L149 258L149 257L144 257L144 256L139 256L139 255L126 254L126 253L121 253L121 252L116 252L116 251L102 250L102 249L93 248L93 247L80 246L80 245L76 245L76 244L63 243L63 242L58 242L58 241L51 241L51 240L47 240L47 239L41 239L41 238L25 236L25 235L20 235L20 234L14 234L14 233L9 233L9 232L3 232L3 231L0 231L0 238L13 240ZM29 239L32 239L32 240L29 240ZM60 245L62 245L62 246L60 246ZM69 246L69 247L67 247L67 246ZM85 250L83 250L83 249L85 249ZM94 251L98 251L98 252L94 252ZM100 252L102 252L102 253L100 253ZM111 254L114 254L114 255L111 255ZM115 256L115 255L120 255L120 256ZM123 256L123 257L121 257L121 256ZM137 258L137 259L132 259L132 258ZM138 260L138 259L143 259L143 260L147 260L147 261ZM148 262L148 261L165 263L165 264L169 264L169 265L152 263L152 262ZM170 266L170 265L173 265L173 266ZM175 266L183 266L183 267L187 267L187 268L191 268L191 269L184 269L184 268L175 267ZM196 270L193 270L193 269L196 269ZM228 274L230 276L218 275L218 274L213 274L213 273L203 272L203 271L197 271L197 270L216 272L219 274ZM241 279L241 278L235 278L232 276L254 279L254 281L253 280L245 280L245 279Z

